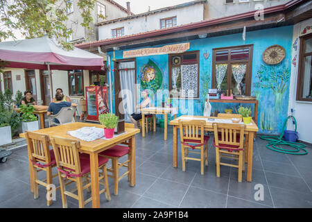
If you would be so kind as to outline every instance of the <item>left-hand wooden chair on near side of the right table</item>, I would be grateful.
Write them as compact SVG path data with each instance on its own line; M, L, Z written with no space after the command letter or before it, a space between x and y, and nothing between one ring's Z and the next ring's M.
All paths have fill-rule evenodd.
M209 136L205 136L204 126L206 121L193 120L182 121L179 120L181 149L182 149L182 171L185 171L186 160L200 161L200 173L204 174L204 162L208 166L208 140ZM191 145L196 144L196 145ZM200 152L189 151L189 148L199 149ZM189 153L199 153L200 158L188 157ZM206 157L205 157L206 155Z

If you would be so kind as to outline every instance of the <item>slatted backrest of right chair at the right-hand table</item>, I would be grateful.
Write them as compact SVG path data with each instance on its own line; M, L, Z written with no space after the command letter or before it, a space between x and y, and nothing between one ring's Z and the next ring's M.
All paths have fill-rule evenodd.
M231 123L213 123L215 144L234 145L243 148L245 125ZM221 135L220 135L221 134ZM239 136L239 141L237 137Z

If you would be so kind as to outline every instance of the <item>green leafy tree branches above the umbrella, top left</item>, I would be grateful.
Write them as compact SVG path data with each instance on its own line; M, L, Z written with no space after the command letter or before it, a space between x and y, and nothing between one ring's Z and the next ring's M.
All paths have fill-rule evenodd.
M67 8L72 5L71 0L1 0L0 1L0 42L8 38L16 39L19 31L26 38L48 35L55 38L63 49L71 50L73 46L66 42L72 33L67 29L69 20ZM95 33L92 29L92 11L96 0L78 0L77 6L83 18L81 26L87 28L89 35ZM103 15L100 17L104 18ZM89 37L87 38L89 41Z

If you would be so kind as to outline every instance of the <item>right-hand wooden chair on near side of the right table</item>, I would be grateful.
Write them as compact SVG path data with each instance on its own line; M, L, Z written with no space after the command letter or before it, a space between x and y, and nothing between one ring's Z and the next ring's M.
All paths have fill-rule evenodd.
M239 169L239 182L245 171L244 131L245 126L231 123L213 123L214 146L216 147L216 176L220 177L220 165ZM238 165L220 162L221 157L239 160Z

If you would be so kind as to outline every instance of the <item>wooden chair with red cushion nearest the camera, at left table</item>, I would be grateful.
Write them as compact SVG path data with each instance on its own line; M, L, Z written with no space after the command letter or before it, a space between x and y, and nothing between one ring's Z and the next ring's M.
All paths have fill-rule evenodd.
M58 178L60 180L60 189L62 193L62 205L63 208L67 208L67 196L71 196L79 201L79 207L85 207L85 204L92 200L90 197L87 200L83 198L83 190L90 191L91 182L89 180L90 174L90 160L89 155L79 153L80 142L75 139L64 139L60 137L51 137L51 143L53 151L55 153L55 160L58 169ZM107 168L106 163L108 159L105 157L98 157L98 168L102 169L102 174L98 178L99 183L104 186L104 189L100 191L100 194L105 192L107 200L110 200L110 190L107 181ZM64 179L76 182L76 189L71 191L66 190L66 184ZM85 182L83 182L85 178ZM103 179L103 182L101 180ZM74 191L78 191L78 195L73 194Z

